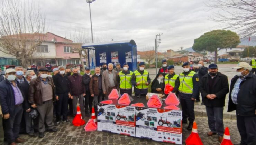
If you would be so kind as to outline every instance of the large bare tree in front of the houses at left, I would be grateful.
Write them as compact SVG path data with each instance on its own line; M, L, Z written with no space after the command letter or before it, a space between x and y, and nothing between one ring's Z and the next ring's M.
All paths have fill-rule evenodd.
M44 40L45 14L39 5L23 0L0 2L0 51L15 56L23 67L29 64Z

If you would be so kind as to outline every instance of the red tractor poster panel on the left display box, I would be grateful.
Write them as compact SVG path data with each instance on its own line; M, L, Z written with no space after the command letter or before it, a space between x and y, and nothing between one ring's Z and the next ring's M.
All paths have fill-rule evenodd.
M135 136L135 107L116 105L116 133Z

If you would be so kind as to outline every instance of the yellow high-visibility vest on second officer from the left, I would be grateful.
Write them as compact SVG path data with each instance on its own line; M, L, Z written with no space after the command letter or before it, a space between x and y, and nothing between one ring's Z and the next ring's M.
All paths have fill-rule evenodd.
M135 86L137 89L147 89L148 86L147 83L147 77L148 77L148 71L144 70L144 73L141 75L138 70L134 71L134 75L136 77L136 83L140 83L138 86Z

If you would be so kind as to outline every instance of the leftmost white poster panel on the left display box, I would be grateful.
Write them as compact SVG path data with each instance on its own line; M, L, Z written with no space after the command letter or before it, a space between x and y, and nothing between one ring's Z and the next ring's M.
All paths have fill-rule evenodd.
M116 107L113 104L98 104L98 131L116 133Z

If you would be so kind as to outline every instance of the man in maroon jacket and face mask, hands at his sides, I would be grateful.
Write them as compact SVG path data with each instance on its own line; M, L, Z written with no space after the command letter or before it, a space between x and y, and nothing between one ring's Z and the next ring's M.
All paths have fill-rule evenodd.
M82 117L85 117L84 112L84 96L85 96L85 86L83 84L83 76L79 74L79 69L77 67L73 68L73 75L68 77L69 92L71 94L73 115L77 113L76 105L79 100L79 106L81 110Z

